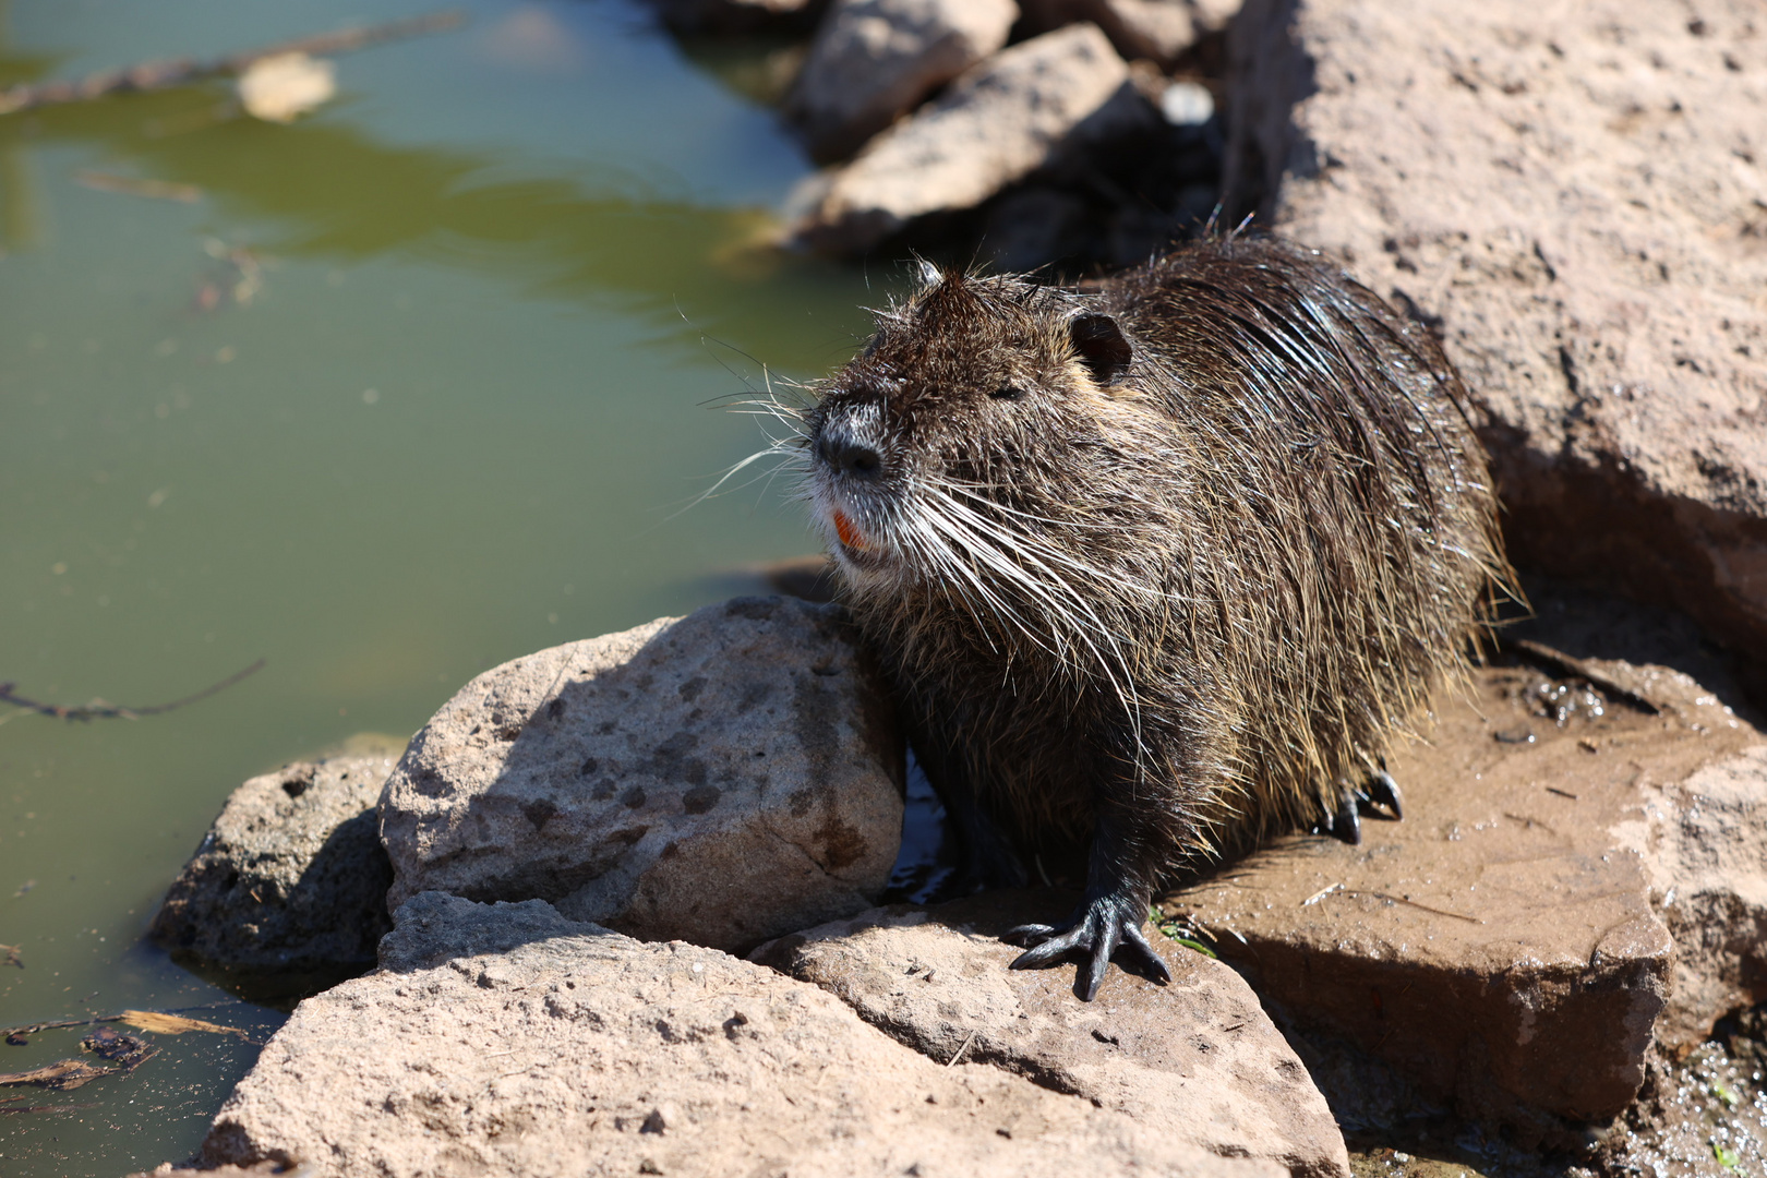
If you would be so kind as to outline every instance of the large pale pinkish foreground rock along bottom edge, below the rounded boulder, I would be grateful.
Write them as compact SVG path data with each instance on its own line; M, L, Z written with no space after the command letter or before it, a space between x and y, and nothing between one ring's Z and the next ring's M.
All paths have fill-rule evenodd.
M1281 1173L984 1063L945 1069L717 950L438 894L401 908L385 970L295 1010L203 1159L339 1178Z

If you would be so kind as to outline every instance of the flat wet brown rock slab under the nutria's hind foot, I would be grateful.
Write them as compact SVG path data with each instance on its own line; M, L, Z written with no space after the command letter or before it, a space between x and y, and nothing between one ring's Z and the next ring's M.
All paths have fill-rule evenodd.
M1767 835L1742 828L1767 742L1677 671L1539 653L1389 756L1403 821L1281 839L1163 904L1293 1024L1534 1137L1624 1109L1656 1035L1767 996Z

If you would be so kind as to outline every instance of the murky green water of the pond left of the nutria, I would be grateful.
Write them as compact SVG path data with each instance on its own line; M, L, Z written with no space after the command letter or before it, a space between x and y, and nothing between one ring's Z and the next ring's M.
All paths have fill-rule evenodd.
M0 2L0 87L421 11ZM746 249L808 170L744 95L765 71L638 4L468 12L339 58L295 125L217 85L0 117L0 682L150 705L269 661L154 719L0 719L0 1024L209 1007L262 1038L281 1016L141 941L239 781L811 546L758 487L682 510L760 445L712 403L839 362L875 300ZM0 1088L0 1173L189 1153L254 1047L148 1038L125 1079Z

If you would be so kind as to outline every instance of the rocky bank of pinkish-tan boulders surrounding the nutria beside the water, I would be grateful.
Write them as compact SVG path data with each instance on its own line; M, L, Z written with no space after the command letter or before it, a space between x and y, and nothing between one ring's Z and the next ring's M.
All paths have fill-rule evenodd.
M1392 758L1403 821L1189 881L1161 918L1219 961L1166 943L1172 985L1119 971L1096 1005L1066 971L1004 970L998 933L1060 895L878 906L905 759L838 608L746 597L518 659L398 765L247 782L173 887L175 950L311 994L205 1164L1767 1159L1762 14L659 9L804 35L785 117L827 168L792 247L944 233L1009 265L1122 265L1225 201L1341 260L1467 374L1536 616ZM823 593L818 572L776 585Z

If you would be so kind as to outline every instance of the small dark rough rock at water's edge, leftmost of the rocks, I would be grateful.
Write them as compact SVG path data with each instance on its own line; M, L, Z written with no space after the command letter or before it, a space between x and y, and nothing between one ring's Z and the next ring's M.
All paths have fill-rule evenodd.
M297 761L228 797L152 936L254 993L302 993L375 964L392 867L375 804L391 758Z

